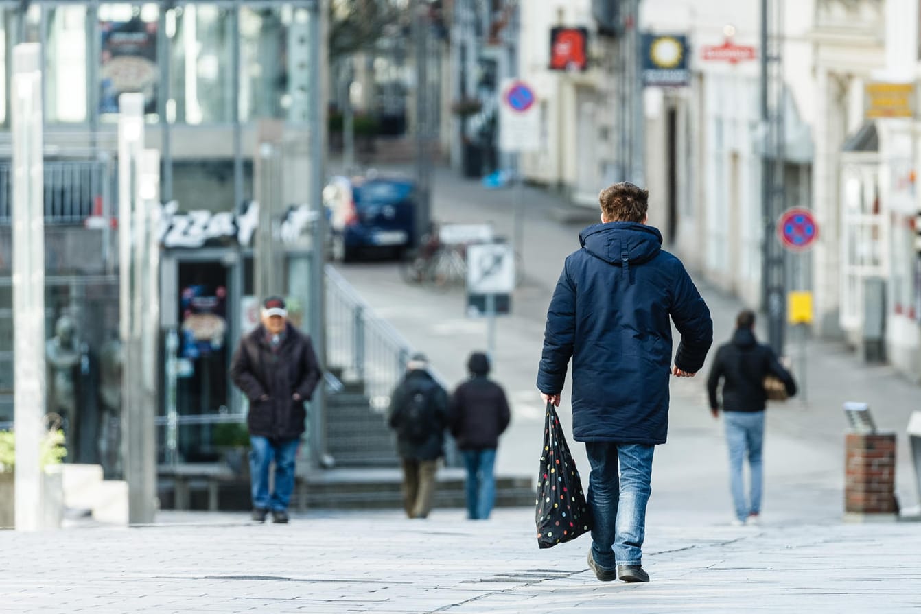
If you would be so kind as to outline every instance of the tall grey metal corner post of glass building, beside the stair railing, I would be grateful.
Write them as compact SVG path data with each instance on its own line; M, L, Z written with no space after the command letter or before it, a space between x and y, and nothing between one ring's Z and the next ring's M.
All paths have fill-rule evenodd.
M309 92L310 104L308 110L308 124L310 134L310 208L316 214L313 224L313 253L310 258L310 278L312 288L309 300L310 336L313 346L320 361L321 370L326 370L326 333L324 306L326 301L324 264L325 253L323 246L326 237L326 214L323 209L323 23L326 11L325 3L314 0L309 4L309 37L310 37L310 66L309 66ZM322 385L317 387L310 401L310 449L313 451L314 462L326 453L326 437L323 416L325 414L325 396Z

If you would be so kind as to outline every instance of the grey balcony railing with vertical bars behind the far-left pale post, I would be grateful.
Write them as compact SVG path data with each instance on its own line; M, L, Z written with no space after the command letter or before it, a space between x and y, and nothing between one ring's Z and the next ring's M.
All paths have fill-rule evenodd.
M93 214L114 214L114 165L104 160L44 163L45 224L82 224ZM13 165L0 162L0 225L11 223Z

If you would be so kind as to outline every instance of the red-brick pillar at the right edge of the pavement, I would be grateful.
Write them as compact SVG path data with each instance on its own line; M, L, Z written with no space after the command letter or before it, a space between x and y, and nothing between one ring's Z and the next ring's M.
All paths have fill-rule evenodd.
M895 434L848 433L845 438L845 517L895 518Z

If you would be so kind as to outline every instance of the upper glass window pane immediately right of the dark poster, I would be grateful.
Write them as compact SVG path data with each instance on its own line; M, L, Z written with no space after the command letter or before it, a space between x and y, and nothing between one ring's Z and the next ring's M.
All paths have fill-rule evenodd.
M169 9L170 123L221 123L233 120L233 11L215 5L189 4Z

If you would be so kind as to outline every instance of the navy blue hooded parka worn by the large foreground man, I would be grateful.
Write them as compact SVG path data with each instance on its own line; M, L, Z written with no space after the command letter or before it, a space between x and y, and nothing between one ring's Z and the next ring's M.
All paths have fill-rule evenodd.
M665 443L671 322L674 364L694 373L713 341L710 312L657 228L595 224L579 243L547 311L538 388L558 394L571 358L577 441Z

